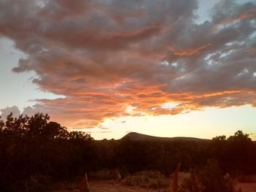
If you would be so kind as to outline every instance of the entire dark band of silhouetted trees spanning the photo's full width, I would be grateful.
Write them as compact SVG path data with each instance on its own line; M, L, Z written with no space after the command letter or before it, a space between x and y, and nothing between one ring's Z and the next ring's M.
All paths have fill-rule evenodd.
M0 121L0 191L29 191L31 180L72 180L102 169L168 175L178 162L181 171L188 171L209 158L216 159L223 172L256 173L256 145L242 131L209 141L96 141L49 119L42 113L18 118L10 114Z

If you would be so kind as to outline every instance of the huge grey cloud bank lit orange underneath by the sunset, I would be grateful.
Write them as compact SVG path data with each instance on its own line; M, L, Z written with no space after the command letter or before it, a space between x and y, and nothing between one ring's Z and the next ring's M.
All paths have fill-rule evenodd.
M256 4L221 1L0 1L0 34L26 53L13 72L63 99L37 100L73 128L106 118L256 107ZM175 107L162 107L175 103Z

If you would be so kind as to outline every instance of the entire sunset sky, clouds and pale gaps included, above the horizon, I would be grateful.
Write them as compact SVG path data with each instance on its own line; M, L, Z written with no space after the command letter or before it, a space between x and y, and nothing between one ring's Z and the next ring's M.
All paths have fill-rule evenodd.
M95 139L256 140L256 1L0 0L0 86Z

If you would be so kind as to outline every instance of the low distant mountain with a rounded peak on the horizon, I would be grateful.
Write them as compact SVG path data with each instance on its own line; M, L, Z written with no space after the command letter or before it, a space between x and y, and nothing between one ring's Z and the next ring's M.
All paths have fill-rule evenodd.
M146 134L130 132L121 139L130 139L133 141L206 141L208 139L199 139L195 137L154 137Z

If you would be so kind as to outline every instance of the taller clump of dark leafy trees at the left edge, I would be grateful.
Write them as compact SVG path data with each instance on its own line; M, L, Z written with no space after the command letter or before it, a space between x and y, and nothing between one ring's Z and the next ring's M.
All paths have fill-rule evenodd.
M1 120L0 191L25 191L32 180L67 180L93 169L94 139L49 119L37 113Z

